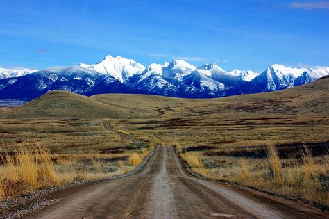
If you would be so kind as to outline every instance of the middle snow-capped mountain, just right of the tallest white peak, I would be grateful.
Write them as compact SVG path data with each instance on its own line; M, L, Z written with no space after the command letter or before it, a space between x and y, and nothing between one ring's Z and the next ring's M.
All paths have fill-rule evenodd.
M244 81L213 63L195 67L183 60L151 64L130 82L134 88L174 97L221 97L244 93Z

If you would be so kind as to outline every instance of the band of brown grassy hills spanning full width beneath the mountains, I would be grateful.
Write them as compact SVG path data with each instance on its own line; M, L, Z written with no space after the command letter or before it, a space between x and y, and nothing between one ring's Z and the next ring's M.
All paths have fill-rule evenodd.
M226 115L260 117L323 116L329 113L329 77L296 88L216 99L180 99L154 95L104 94L85 97L66 91L48 92L12 108L1 117L151 118Z

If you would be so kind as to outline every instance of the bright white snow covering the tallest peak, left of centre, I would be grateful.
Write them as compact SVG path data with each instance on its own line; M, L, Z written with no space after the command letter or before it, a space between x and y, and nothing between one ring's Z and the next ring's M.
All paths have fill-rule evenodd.
M122 58L121 56L106 56L101 62L94 65L79 63L78 66L93 69L102 74L108 74L122 83L128 83L130 77L141 74L145 67L133 59Z

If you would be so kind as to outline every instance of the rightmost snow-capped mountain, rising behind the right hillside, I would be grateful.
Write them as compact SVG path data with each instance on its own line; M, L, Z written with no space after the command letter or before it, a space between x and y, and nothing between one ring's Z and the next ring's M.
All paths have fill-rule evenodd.
M251 83L260 91L273 91L291 88L293 86L309 83L329 74L328 67L296 68L284 65L271 65Z

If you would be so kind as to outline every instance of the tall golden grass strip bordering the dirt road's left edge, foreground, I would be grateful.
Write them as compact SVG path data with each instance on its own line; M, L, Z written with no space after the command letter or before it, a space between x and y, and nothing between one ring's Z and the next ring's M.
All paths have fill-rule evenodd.
M131 165L125 165L126 162L124 163L123 160L108 160L116 157L124 158L126 154L54 156L45 147L22 145L10 154L7 152L1 153L0 200L11 199L31 193L36 189L54 185L123 174L142 163L142 160L150 151L151 149L142 149L140 153L130 154L129 161ZM103 171L104 168L106 172Z

